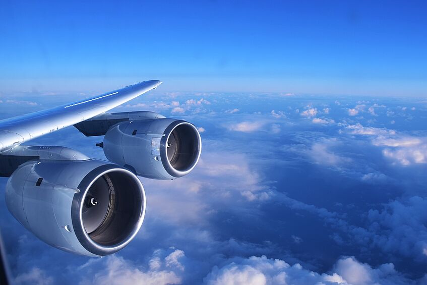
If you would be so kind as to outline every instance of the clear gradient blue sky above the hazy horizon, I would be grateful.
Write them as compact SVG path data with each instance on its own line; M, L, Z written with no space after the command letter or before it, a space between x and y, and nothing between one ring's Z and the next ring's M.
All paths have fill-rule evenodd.
M423 1L2 1L0 91L426 96ZM111 87L111 88L110 88Z

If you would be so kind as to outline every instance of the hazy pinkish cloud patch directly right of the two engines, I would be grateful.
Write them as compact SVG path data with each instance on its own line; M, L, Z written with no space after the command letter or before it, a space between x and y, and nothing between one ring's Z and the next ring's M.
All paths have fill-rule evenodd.
M150 209L156 213L153 218L171 225L186 224L186 229L197 224L199 229L218 210L216 205L246 212L248 202L268 201L274 196L246 155L212 152L210 148L205 146L191 176L174 181L143 180L145 188L156 189L147 193ZM170 189L179 195L171 195ZM208 233L202 233L201 237L211 241Z

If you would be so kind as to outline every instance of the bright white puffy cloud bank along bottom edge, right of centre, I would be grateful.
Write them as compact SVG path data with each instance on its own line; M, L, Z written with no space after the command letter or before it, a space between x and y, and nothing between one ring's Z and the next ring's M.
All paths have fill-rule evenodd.
M299 263L290 265L280 259L269 259L265 255L252 256L247 259L234 258L229 263L218 267L204 278L208 285L216 284L410 284L394 269L392 263L382 264L378 268L358 262L354 257L339 259L331 273L319 274L303 268Z

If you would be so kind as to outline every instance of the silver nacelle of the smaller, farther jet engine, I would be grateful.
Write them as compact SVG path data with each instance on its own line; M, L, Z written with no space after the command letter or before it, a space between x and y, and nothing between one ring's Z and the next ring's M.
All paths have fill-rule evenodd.
M133 120L112 126L105 134L103 149L109 161L139 176L174 179L196 166L202 140L197 128L186 121Z

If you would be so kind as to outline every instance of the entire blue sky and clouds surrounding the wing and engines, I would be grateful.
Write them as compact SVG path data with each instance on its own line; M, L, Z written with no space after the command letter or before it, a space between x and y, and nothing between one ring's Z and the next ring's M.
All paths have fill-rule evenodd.
M3 9L4 8L4 9ZM103 258L9 213L17 284L427 284L421 2L19 3L0 10L0 120L141 80L113 111L189 121L188 176L141 178L144 223ZM106 159L74 127L26 145Z

